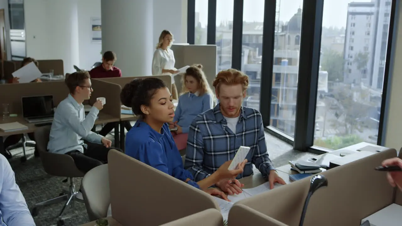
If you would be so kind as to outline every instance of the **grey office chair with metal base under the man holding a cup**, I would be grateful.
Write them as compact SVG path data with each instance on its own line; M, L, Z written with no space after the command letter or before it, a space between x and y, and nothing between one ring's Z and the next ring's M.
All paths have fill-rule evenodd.
M34 136L39 151L39 156L42 160L43 168L45 172L52 176L67 177L63 182L70 180L70 191L62 191L59 196L51 199L36 203L32 210L31 215L33 217L39 214L39 208L45 205L59 203L60 201L67 200L64 204L60 214L57 216L57 226L63 226L64 220L62 215L66 207L71 203L74 205L74 201L82 201L77 198L78 191L75 189L74 177L84 177L82 173L76 167L73 158L66 154L55 154L47 151L47 143L49 142L50 126L42 126L35 130Z

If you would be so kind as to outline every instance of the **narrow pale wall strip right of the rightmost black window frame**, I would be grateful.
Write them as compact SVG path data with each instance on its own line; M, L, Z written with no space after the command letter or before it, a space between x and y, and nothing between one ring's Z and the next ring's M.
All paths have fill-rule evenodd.
M390 108L388 109L388 115L386 117L386 138L385 146L388 148L395 148L399 150L402 147L402 4L399 4L399 21L395 24L398 26L396 31L396 45L392 48L395 49L394 54L394 67L390 68L392 78L388 80L391 83L390 90Z

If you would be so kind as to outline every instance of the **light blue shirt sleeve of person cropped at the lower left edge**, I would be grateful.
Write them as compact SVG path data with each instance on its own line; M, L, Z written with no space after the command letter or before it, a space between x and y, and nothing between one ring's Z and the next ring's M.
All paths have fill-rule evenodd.
M0 154L0 219L2 226L35 226L27 203L15 183L14 172L6 157Z

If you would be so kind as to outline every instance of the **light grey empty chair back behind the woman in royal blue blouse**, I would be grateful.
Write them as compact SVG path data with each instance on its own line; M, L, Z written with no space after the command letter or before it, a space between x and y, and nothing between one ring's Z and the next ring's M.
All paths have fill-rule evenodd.
M89 220L107 217L110 205L108 165L96 166L86 173L82 178L81 189Z

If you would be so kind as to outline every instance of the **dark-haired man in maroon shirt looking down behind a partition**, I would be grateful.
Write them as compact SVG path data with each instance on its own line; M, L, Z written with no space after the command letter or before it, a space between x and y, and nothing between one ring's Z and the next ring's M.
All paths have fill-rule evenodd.
M92 68L89 74L91 78L111 78L111 77L121 77L121 70L113 66L116 62L116 54L112 51L106 51L102 57L102 64L96 68ZM123 121L124 127L129 131L131 129L131 124L129 121ZM115 127L115 123L107 123L100 130L99 134L106 136Z

